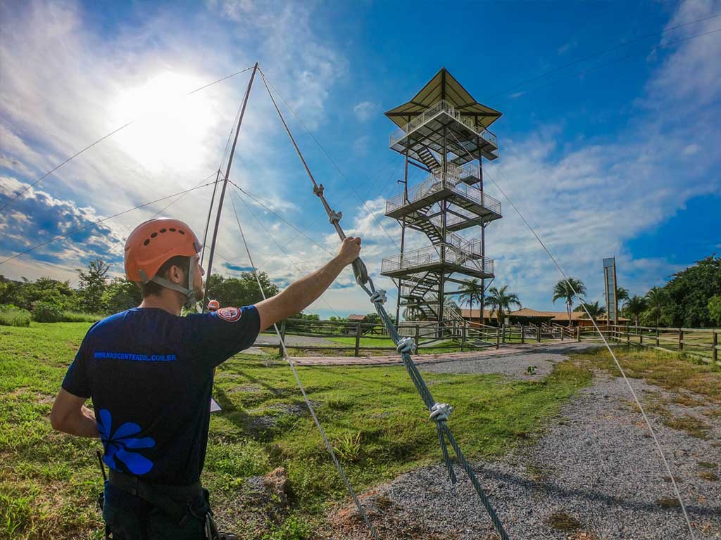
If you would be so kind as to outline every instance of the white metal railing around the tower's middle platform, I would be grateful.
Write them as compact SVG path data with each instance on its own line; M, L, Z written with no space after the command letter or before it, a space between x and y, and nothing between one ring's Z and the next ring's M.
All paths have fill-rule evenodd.
M491 212L495 212L500 215L500 201L494 199L485 192L482 192L480 189L464 184L461 181L469 176L475 175L477 177L478 165L476 163L472 163L472 167L459 167L448 164L447 168L448 170L445 173L441 168L436 169L433 171L433 174L428 176L428 178L423 182L410 187L408 189L407 199L404 197L404 194L399 193L391 199L386 200L386 214L446 188L461 195L464 199L480 204L482 207L487 208Z

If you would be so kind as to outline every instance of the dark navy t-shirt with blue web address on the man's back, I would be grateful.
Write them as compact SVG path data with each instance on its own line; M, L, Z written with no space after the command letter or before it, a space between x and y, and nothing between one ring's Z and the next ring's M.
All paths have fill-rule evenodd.
M92 397L108 467L192 484L208 445L213 368L259 330L255 306L187 317L136 307L88 330L63 389Z

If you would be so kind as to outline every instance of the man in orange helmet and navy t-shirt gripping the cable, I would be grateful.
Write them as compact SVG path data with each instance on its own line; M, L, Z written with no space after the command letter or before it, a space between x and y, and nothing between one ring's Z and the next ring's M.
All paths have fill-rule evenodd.
M361 239L346 238L322 269L255 306L180 317L203 297L200 247L180 220L133 230L125 274L143 302L88 330L50 413L56 430L102 439L110 468L103 518L115 540L233 537L215 531L200 485L213 369L317 300L358 258Z

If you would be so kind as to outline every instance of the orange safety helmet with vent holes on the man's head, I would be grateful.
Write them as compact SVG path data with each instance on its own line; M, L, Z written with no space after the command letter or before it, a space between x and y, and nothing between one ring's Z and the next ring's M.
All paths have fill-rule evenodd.
M169 217L148 220L125 240L125 276L131 282L159 281L154 278L165 261L174 256L192 257L201 247L198 237L184 222Z

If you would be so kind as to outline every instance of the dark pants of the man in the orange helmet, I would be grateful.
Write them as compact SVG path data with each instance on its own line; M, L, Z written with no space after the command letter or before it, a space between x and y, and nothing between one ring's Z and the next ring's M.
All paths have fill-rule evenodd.
M202 516L208 508L203 495L191 502L194 512ZM112 531L113 540L203 540L203 522L190 512L184 517L171 516L151 503L105 483L102 518Z

